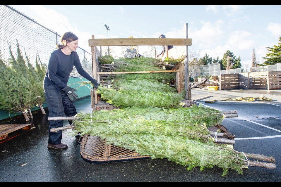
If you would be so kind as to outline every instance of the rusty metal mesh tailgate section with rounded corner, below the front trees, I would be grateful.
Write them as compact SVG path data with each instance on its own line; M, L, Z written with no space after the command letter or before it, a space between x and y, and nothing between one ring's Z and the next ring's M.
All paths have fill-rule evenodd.
M104 164L113 162L128 162L135 160L148 160L150 157L142 156L135 151L125 148L107 145L106 141L97 136L84 135L80 154L84 160L94 164Z

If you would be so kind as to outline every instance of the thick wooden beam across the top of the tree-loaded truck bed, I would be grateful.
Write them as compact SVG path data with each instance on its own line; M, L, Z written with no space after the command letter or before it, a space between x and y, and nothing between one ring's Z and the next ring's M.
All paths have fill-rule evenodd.
M89 46L191 46L186 38L109 38L89 39Z

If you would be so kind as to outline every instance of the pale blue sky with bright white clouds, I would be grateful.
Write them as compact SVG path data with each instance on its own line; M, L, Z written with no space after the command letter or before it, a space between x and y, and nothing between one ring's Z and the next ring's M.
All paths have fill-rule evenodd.
M229 50L240 56L243 67L250 67L253 49L257 63L263 63L266 47L277 45L281 36L281 5L9 6L59 34L72 31L79 47L89 52L92 35L107 38L105 24L109 38L186 38L187 23L190 54L221 59ZM162 46L155 47L159 54Z

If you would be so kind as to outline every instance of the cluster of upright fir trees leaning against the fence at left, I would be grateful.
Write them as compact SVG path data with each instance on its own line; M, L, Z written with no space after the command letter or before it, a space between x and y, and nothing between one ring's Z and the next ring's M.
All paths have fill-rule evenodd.
M11 46L9 46L9 51L11 58L7 63L1 58L0 109L11 113L21 112L26 121L29 121L29 117L32 117L30 109L35 107L36 103L40 103L42 106L44 102L43 70L40 68L39 71L36 71L25 54L26 62L20 51L18 41L17 58L13 55ZM36 63L38 64L38 62Z

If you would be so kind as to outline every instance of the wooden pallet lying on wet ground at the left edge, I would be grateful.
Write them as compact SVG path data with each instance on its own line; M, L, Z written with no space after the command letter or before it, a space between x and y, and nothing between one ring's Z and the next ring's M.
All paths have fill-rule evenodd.
M0 143L19 136L23 131L30 130L29 124L0 124Z

